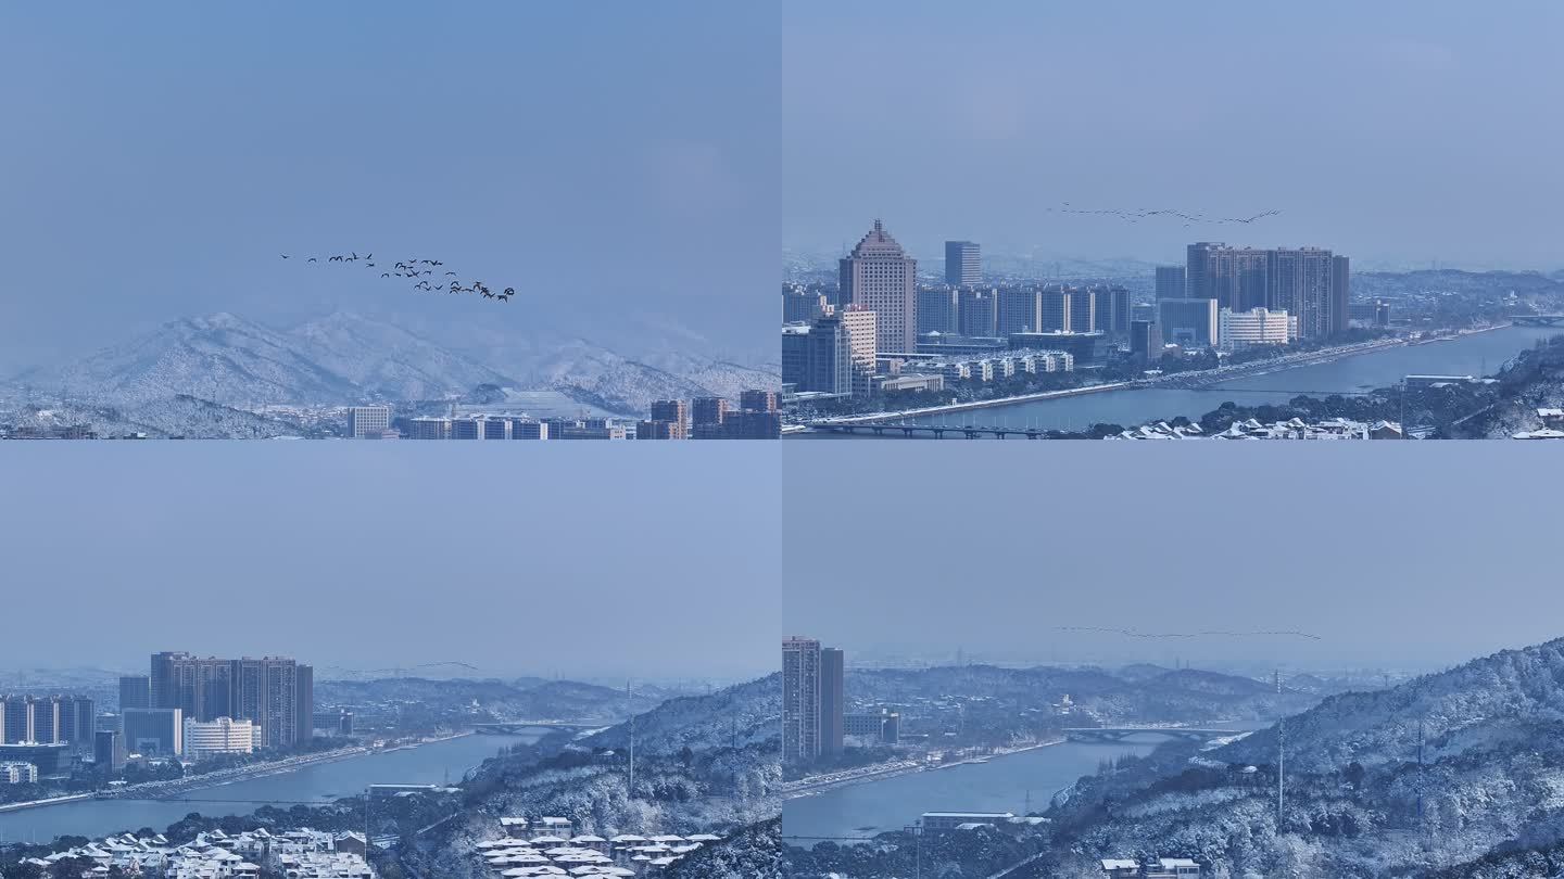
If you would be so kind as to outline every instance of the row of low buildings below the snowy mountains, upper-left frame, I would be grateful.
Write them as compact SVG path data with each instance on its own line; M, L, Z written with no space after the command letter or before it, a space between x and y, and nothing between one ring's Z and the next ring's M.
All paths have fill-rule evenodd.
M393 425L391 407L347 410L347 436L353 440L776 440L782 416L776 391L748 389L738 394L737 407L726 397L657 400L640 421L475 413L404 424L407 433Z

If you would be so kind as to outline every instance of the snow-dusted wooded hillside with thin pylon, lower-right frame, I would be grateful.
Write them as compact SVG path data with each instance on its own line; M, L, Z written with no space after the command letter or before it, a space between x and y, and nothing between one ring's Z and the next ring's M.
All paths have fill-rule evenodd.
M1281 820L1272 727L1082 779L1054 866L1068 849L1195 857L1218 876L1547 876L1519 866L1564 854L1564 640L1329 696L1281 740Z

